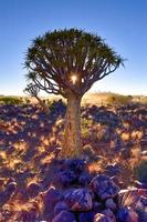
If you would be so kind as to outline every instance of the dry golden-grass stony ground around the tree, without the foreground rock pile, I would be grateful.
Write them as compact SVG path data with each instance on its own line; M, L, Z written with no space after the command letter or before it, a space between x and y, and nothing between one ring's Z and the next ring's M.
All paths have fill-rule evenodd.
M43 212L43 192L51 185L57 186L54 161L60 157L64 114L61 102L53 102L50 113L35 103L0 105L1 221L12 221L33 204L35 210L39 208L38 213ZM82 134L90 174L117 176L122 189L139 179L147 182L136 173L136 167L147 161L146 104L84 104ZM34 194L30 194L32 183L36 185ZM6 196L10 184L11 194Z

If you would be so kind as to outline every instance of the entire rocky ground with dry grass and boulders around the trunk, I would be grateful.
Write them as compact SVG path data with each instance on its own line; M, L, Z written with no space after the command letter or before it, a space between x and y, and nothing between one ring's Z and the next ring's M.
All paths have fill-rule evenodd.
M0 107L0 221L146 222L147 107L83 107L82 160L57 160L65 105L50 109Z

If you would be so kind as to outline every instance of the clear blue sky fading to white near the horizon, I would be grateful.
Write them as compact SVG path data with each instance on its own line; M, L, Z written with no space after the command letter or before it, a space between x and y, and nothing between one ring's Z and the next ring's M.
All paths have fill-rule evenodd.
M23 94L31 41L64 28L96 33L126 59L91 91L147 95L146 0L0 0L0 94Z

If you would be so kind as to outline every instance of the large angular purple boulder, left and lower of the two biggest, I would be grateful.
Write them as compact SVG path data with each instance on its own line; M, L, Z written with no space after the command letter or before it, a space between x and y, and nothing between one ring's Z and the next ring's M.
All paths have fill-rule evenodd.
M90 211L92 210L92 195L87 189L72 189L64 195L71 211Z

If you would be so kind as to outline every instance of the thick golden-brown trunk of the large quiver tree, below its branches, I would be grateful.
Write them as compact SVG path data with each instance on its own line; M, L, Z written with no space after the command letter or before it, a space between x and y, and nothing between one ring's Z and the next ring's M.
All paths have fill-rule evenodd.
M67 97L64 127L62 158L78 158L82 152L81 98L77 98L74 94L69 94Z

